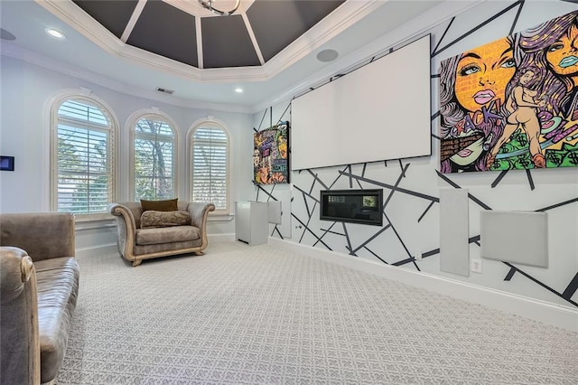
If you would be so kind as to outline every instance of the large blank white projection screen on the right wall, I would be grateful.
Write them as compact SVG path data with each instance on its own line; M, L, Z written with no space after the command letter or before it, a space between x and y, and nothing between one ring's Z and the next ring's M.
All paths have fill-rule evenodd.
M430 35L296 98L291 168L432 154Z

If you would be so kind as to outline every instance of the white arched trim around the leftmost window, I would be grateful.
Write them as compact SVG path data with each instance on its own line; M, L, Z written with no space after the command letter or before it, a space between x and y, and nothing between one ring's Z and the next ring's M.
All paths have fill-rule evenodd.
M108 114L110 117L110 155L109 160L111 162L111 195L110 200L111 202L116 202L118 196L118 182L119 182L119 175L118 175L118 153L117 153L117 136L118 136L118 119L117 115L113 108L111 108L106 101L99 98L98 96L94 95L90 89L79 88L79 89L63 89L59 92L56 92L51 96L51 98L47 99L46 103L44 104L45 110L45 117L49 117L49 129L47 132L49 133L49 202L48 202L48 210L49 211L58 211L58 110L61 108L62 103L67 100L86 100L89 104L96 105L98 108L101 108ZM89 220L92 217L99 217L102 214L105 214L106 211L101 212L91 212L91 213L75 213L75 216L79 219L86 219Z

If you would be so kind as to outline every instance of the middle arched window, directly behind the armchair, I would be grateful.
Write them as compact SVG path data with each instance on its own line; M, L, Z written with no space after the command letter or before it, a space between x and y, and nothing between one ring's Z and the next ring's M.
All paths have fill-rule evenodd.
M176 195L176 134L167 117L145 114L132 127L131 192L140 199L171 199Z

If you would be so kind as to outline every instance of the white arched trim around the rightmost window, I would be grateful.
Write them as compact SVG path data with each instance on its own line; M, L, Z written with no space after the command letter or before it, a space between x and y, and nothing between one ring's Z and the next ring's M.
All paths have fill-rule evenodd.
M231 179L231 159L232 159L232 143L231 143L231 133L228 130L227 125L215 118L215 117L204 117L196 120L191 124L191 127L187 130L187 178L188 192L187 196L190 202L192 202L192 142L194 139L195 132L199 127L216 127L222 129L227 135L227 208L221 210L215 210L210 212L211 216L230 216L232 215L233 204L231 202L231 191L232 191L232 179Z

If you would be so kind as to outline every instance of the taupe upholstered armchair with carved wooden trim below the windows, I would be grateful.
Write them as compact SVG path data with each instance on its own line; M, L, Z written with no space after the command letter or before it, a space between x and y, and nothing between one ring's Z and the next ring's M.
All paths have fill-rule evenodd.
M117 219L118 251L133 266L149 258L187 253L202 255L207 248L207 217L215 205L172 201L177 210L147 210L141 202L108 206Z

